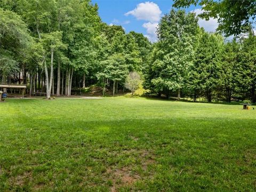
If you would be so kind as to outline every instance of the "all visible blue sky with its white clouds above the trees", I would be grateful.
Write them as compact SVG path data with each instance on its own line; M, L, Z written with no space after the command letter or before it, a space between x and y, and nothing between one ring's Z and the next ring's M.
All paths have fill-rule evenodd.
M99 15L103 22L108 25L121 25L126 33L135 31L142 33L150 41L157 41L156 26L159 19L172 9L173 1L137 1L137 0L92 0L99 6ZM200 7L191 6L187 12L200 13ZM217 20L199 20L199 26L206 31L215 31L218 26Z

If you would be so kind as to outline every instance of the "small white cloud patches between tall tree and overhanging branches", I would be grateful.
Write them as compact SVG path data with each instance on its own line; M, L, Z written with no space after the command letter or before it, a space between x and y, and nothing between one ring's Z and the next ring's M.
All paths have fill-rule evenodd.
M203 13L204 11L202 9L195 9L191 12L196 13L196 15ZM218 27L218 20L210 18L208 21L198 18L198 25L200 27L203 27L205 31L208 32L215 32Z

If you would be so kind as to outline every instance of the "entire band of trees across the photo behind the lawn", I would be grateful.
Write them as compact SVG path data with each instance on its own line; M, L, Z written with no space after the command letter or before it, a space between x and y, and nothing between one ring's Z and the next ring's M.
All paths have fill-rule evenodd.
M256 102L256 36L245 28L227 41L200 28L195 13L173 9L151 43L103 23L89 0L4 0L1 83L26 84L29 95L49 99L90 85L115 94L136 76L147 92L167 98Z

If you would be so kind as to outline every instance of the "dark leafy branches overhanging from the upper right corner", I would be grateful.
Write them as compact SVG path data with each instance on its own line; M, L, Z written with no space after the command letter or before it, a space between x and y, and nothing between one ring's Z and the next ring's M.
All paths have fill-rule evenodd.
M201 5L203 13L199 17L209 20L218 19L218 29L226 36L238 36L248 30L255 20L255 1L230 1L230 0L175 0L174 7L189 7Z

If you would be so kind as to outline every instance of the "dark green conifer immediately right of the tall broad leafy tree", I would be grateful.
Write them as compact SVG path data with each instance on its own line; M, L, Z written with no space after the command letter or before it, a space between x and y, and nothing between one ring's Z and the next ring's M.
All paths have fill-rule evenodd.
M217 34L203 33L196 49L196 59L191 66L189 89L194 91L194 100L198 91L202 92L207 101L211 102L213 91L217 89L218 63L223 49L223 38ZM190 87L191 85L191 87Z

